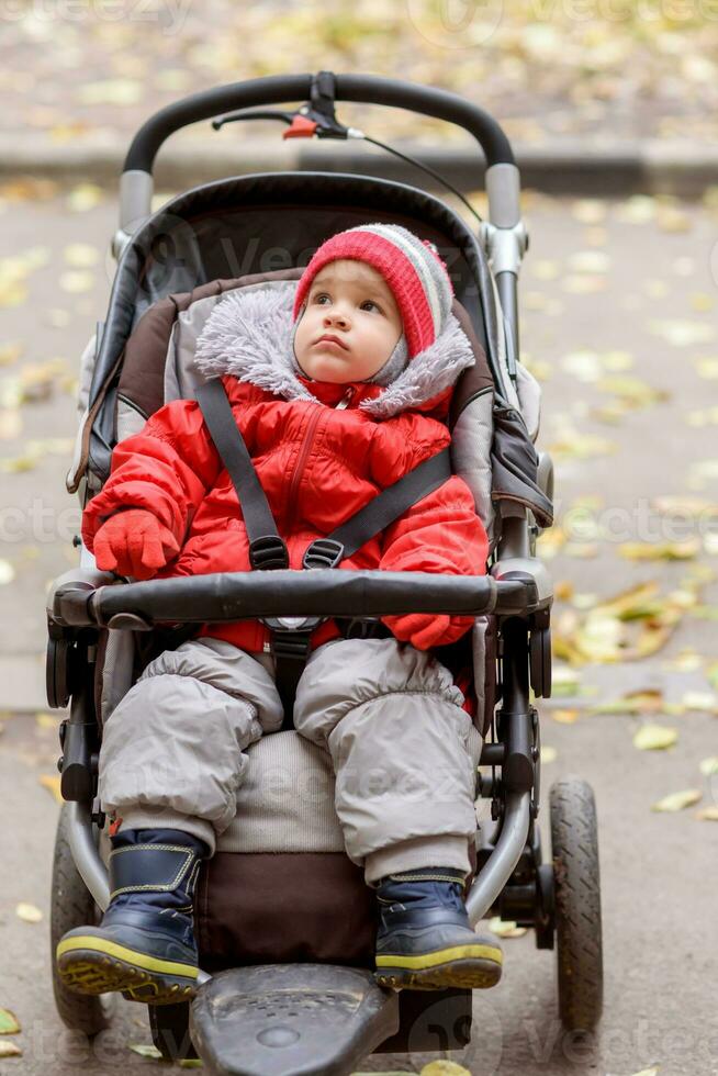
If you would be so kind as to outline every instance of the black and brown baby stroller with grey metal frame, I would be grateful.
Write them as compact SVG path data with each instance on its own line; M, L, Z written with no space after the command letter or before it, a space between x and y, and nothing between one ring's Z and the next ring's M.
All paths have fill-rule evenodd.
M306 103L296 111L267 108L298 100ZM480 221L474 234L417 188L307 170L229 177L150 212L153 164L172 132L212 117L215 127L277 117L290 124L288 136L364 137L339 122L339 100L410 109L471 132L486 157L490 221ZM474 349L476 361L452 399L451 468L473 493L491 552L486 574L470 578L338 572L327 564L133 583L99 571L80 548L79 567L55 581L47 608L48 702L70 706L60 726L65 804L53 953L67 930L98 921L109 904L98 751L103 721L152 657L203 621L462 614L474 617L474 627L441 648L440 659L455 675L467 675L481 738L476 797L491 803L491 820L478 823L472 850L469 918L474 926L498 916L532 928L539 949L553 949L556 940L562 1021L568 1030L592 1030L603 974L591 787L579 777L551 787L552 859L543 858L537 823L540 727L532 702L551 692L552 586L536 538L552 524L553 482L550 458L535 447L539 386L518 358L517 276L528 237L504 133L458 96L394 79L329 71L260 78L194 94L152 116L127 154L120 203L109 312L81 360L82 417L69 492L86 504L110 472L114 445L169 400L194 395L201 376L193 345L222 295L291 287L334 233L393 222L436 244L451 274L453 313ZM333 795L295 794L313 783L332 793L328 758L293 730L291 709L282 729L247 754L236 821L198 884L198 995L191 1004L148 1006L161 1054L199 1055L211 1073L289 1076L350 1073L372 1052L465 1046L471 990L392 990L373 978L372 894L346 855ZM284 793L270 795L268 775L279 760L291 780ZM88 1035L109 1027L114 996L71 994L57 976L54 989L68 1027Z

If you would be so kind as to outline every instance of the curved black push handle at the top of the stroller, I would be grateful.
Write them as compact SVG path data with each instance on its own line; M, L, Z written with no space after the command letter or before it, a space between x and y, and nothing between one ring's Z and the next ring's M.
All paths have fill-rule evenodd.
M244 82L229 82L182 98L160 109L139 128L127 152L123 170L152 172L161 144L175 131L188 124L236 109L307 100L312 78L312 75L270 75ZM456 93L375 75L335 75L335 86L337 101L386 104L456 123L476 138L490 167L514 164L512 147L500 124L483 109Z

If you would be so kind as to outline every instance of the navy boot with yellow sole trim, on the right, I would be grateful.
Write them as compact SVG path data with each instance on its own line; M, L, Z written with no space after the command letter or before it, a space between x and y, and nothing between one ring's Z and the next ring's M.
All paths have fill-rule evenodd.
M493 934L476 934L462 898L463 873L422 867L390 874L377 889L380 986L410 990L481 989L501 978Z

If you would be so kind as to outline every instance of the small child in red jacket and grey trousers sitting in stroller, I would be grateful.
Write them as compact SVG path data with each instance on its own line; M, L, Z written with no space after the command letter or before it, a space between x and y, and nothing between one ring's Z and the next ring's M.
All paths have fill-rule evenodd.
M222 377L290 568L301 569L313 540L447 447L452 386L474 356L436 248L399 225L334 235L293 306L292 287L220 299L195 363ZM167 404L117 445L82 536L100 569L135 579L250 569L237 495L197 401ZM339 567L479 575L487 550L471 492L452 475ZM344 638L332 619L314 629L294 727L329 752L347 854L377 892L378 982L493 986L501 949L473 931L462 896L476 829L471 719L431 653L472 619L382 619L378 638ZM106 720L99 792L113 819L112 897L99 927L59 943L72 989L152 1004L193 995L195 879L236 814L245 749L282 726L274 670L261 621L203 625L152 661ZM380 787L357 780L378 769Z

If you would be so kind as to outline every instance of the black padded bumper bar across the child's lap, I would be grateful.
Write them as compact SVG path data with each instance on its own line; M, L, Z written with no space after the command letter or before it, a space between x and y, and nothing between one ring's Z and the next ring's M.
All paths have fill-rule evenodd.
M312 569L227 572L119 585L116 576L108 572L75 570L57 580L48 616L55 624L75 628L149 630L156 623L407 613L525 616L540 608L536 581L523 573L511 574L496 580L491 575Z

